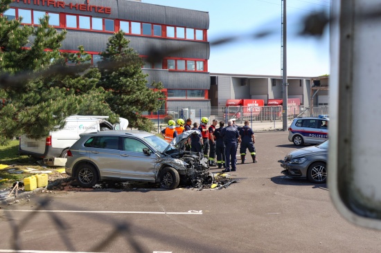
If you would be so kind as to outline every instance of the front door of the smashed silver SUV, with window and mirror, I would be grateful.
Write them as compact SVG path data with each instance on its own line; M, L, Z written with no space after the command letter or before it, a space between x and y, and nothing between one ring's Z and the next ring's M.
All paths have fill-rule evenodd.
M144 142L132 137L122 138L121 178L155 182L157 156ZM152 153L143 153L147 148Z

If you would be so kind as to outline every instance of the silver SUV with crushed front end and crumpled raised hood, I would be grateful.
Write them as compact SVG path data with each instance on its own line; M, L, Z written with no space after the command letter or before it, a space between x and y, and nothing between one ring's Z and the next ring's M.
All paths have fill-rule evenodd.
M159 182L164 189L181 183L201 187L211 180L207 159L184 151L190 130L170 144L145 131L82 133L67 151L66 173L82 187L98 180Z

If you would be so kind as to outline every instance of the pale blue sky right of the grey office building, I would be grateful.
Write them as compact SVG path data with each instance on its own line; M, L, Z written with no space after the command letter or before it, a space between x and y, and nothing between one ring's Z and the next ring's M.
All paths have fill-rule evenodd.
M281 0L142 0L209 12L209 41L273 31L265 39L240 39L212 46L209 72L281 75ZM298 36L301 20L319 10L329 11L330 0L287 0L287 75L314 77L330 73L329 32L320 39Z

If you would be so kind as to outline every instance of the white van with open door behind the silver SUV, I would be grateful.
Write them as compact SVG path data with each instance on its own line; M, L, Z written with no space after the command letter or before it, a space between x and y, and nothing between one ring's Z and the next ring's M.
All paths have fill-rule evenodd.
M128 120L119 118L111 124L108 116L72 115L65 119L63 129L50 131L46 138L30 139L21 135L19 154L35 158L67 158L67 150L80 138L80 133L109 130L125 130Z

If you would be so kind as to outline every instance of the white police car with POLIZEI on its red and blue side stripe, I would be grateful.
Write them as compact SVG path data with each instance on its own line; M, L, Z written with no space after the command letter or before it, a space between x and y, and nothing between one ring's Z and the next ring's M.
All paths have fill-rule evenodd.
M296 146L319 144L328 140L328 115L295 118L288 128L288 140Z

